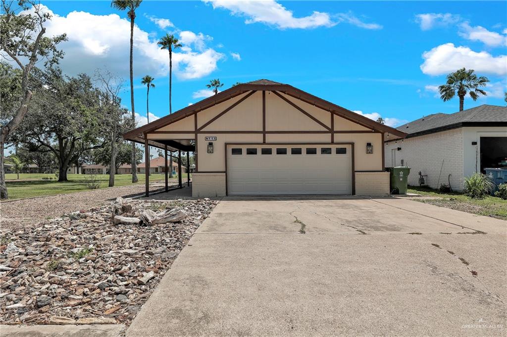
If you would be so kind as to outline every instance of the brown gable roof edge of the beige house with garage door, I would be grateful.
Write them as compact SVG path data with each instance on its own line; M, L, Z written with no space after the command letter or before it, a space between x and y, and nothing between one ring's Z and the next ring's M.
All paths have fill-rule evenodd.
M302 100L306 103L315 105L316 107L326 110L332 111L333 113L344 117L348 120L351 120L355 123L363 125L367 128L370 128L374 131L379 131L383 133L389 133L397 138L405 138L407 134L403 131L396 130L394 128L388 127L387 125L378 123L368 117L359 115L353 111L345 109L339 105L333 104L329 101L323 100L319 97L313 96L307 92L304 92L300 89L297 89L293 86L275 82L269 79L258 79L255 81L250 81L246 83L240 83L232 88L224 90L216 95L205 98L202 101L199 101L195 104L187 106L183 109L180 109L170 115L164 116L160 119L154 120L151 123L143 125L137 129L134 129L130 132L127 132L123 135L123 138L133 141L139 141L139 139L143 138L144 133L149 133L160 129L170 123L173 123L177 120L188 117L194 113L197 113L201 110L212 107L216 104L225 102L233 97L244 94L250 91L273 91L273 92L281 92L286 95L292 96L299 100ZM396 138L395 137L395 138ZM392 138L391 138L392 139Z

